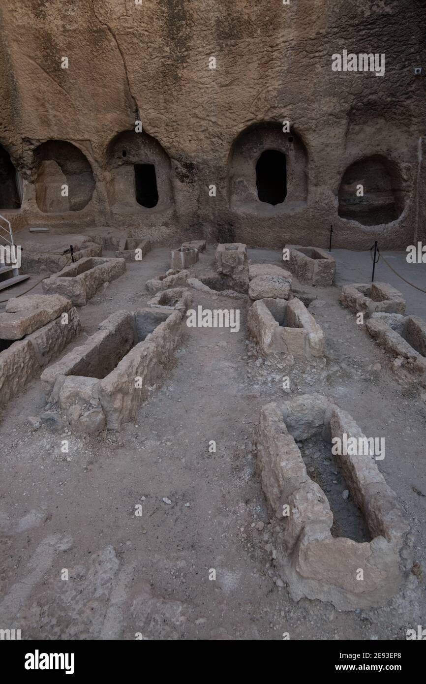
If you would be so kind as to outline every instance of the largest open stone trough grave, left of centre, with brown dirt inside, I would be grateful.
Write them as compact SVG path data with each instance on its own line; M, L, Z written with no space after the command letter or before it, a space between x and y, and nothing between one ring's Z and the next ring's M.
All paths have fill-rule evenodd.
M118 311L42 373L49 403L80 432L120 430L168 371L185 308Z

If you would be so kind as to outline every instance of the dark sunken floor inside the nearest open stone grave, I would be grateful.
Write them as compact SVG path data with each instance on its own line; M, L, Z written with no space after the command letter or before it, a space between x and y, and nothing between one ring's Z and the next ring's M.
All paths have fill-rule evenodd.
M328 498L333 514L332 536L370 542L367 522L352 498L336 456L332 455L331 445L317 435L297 442L297 447L310 479L319 484Z

